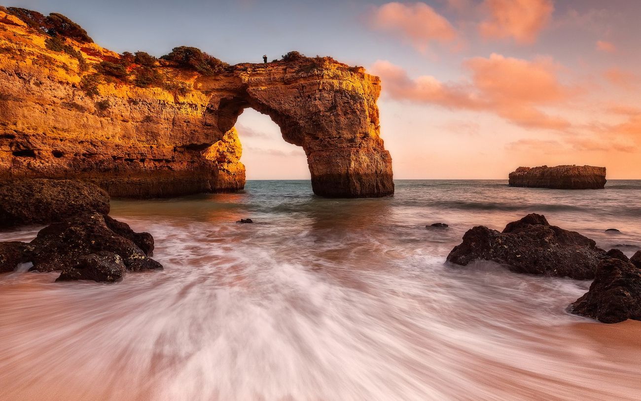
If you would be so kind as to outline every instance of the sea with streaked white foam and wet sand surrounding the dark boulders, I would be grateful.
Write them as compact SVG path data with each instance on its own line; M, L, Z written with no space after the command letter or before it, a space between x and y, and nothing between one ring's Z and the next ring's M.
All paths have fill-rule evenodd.
M641 181L397 181L394 197L364 200L250 181L113 201L114 218L154 235L165 269L119 284L0 275L0 399L638 399L641 322L565 312L590 282L444 264L472 226L529 212L641 249ZM425 228L438 222L450 227Z

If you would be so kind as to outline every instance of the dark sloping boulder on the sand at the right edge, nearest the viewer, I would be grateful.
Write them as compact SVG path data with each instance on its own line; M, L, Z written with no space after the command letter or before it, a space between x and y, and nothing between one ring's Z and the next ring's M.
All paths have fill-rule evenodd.
M621 259L603 259L590 290L569 311L603 323L641 320L641 269Z

